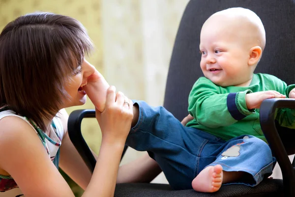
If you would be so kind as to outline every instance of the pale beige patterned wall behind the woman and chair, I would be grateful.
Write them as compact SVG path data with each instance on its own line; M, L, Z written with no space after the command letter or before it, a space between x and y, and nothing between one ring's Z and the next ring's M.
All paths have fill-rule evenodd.
M68 15L87 28L96 50L89 61L131 99L163 103L166 76L180 17L188 0L0 0L0 30L19 15L48 11ZM84 106L68 108L93 108ZM96 121L83 121L83 134L98 152ZM129 150L123 163L141 153ZM165 178L159 179L161 182Z

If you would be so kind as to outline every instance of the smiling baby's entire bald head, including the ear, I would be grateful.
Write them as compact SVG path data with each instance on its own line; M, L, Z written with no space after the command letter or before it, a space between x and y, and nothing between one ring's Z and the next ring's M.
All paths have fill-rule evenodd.
M236 7L216 12L201 30L201 69L219 86L248 86L265 45L264 26L253 11Z

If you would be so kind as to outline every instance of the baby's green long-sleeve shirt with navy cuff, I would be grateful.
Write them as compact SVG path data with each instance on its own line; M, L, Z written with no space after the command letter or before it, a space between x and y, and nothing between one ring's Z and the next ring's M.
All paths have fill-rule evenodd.
M194 120L187 123L224 140L249 134L266 141L260 127L259 109L247 109L247 93L275 90L289 96L295 85L287 86L285 82L269 74L253 74L248 87L220 87L205 77L194 84L189 98L188 112ZM283 127L295 129L295 110L283 108L277 110L276 120Z

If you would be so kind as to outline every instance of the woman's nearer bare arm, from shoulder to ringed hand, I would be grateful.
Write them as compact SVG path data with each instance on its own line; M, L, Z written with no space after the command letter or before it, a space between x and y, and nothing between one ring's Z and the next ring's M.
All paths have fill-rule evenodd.
M110 88L104 112L96 112L102 131L102 145L83 197L114 196L118 166L133 118L132 101L128 108L123 102L124 96L121 93L116 96L115 89ZM14 178L26 197L74 197L28 123L18 117L5 117L0 121L0 136L0 167ZM63 147L63 156L75 151L69 141L63 142L63 145L67 144ZM63 166L64 162L61 163ZM89 175L85 177L89 179ZM82 184L85 182L81 181Z

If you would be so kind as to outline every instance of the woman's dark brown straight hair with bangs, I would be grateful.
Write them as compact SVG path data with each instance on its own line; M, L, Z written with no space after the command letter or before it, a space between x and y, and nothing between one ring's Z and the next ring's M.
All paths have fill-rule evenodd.
M0 33L0 106L32 119L43 131L66 98L67 76L82 64L92 43L77 20L31 13Z

